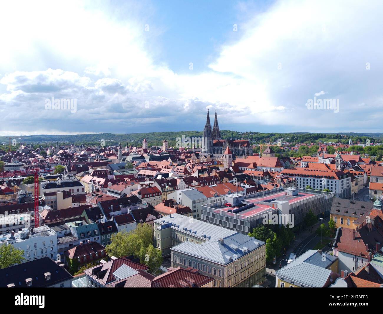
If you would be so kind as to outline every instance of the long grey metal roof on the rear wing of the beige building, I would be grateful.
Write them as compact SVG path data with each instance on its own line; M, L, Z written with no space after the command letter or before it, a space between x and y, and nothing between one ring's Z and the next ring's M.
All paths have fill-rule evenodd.
M205 241L218 240L237 233L236 231L218 227L216 225L209 224L208 222L203 222L201 220L193 219L180 214L168 215L154 220L154 222L161 225L159 229L171 227L172 229L189 233L193 237L200 237Z

